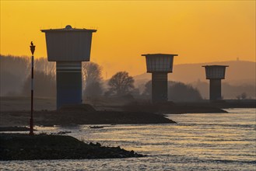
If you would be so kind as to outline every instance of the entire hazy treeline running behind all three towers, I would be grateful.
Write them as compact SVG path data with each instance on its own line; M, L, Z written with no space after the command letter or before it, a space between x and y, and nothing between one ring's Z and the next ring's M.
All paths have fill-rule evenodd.
M30 96L30 57L0 56L0 95ZM93 62L82 62L82 85L84 99L127 97L128 99L151 99L151 81L144 82L140 89L128 72L117 72L110 80L103 81L102 67ZM36 58L34 65L34 95L40 97L56 96L55 62L47 58ZM122 83L121 83L122 82ZM142 89L141 89L142 88ZM253 87L236 87L223 84L223 94L233 90L233 99L255 95ZM239 91L238 91L239 90ZM200 92L203 94L200 94ZM182 82L168 83L168 99L171 101L198 101L209 94L209 84L196 82L191 85Z

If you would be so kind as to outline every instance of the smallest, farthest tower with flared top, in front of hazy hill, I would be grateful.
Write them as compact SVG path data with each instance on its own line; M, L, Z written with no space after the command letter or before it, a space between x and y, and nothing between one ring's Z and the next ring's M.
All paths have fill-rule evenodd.
M227 65L205 65L206 79L210 80L210 100L222 99L221 80L225 79Z

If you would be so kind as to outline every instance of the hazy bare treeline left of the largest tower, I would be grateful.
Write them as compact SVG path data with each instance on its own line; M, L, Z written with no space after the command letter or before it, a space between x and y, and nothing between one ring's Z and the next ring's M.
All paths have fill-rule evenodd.
M0 55L1 96L29 96L31 64L30 57ZM46 58L34 61L35 96L55 96L55 62Z

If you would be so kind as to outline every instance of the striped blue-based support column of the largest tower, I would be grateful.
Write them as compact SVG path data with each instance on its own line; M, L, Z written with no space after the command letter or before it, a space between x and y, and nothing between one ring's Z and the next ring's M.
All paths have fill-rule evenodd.
M56 61L57 109L82 103L82 62Z

